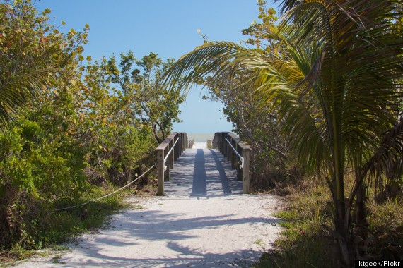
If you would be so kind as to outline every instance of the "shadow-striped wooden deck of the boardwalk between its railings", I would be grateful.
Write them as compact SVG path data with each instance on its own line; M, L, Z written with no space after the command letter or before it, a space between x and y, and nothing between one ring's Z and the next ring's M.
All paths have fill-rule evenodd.
M242 194L243 182L236 180L236 170L215 149L186 149L170 170L165 181L165 195L213 197Z

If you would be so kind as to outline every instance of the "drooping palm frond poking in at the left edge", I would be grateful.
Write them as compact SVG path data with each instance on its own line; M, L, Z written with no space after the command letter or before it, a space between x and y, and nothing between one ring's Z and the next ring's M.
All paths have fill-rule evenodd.
M17 75L0 85L0 128L4 128L11 114L26 106L29 99L35 99L45 91L49 78L61 73L59 68L45 68Z

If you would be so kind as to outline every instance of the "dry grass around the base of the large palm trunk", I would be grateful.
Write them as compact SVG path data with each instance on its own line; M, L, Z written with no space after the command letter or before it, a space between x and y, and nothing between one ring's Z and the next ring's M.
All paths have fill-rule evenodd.
M351 187L346 181L346 188ZM333 243L330 193L325 181L305 178L286 187L287 207L276 216L284 221L284 231L275 249L265 253L255 267L332 267ZM403 259L403 202L395 198L382 204L368 197L368 238L366 258L373 260Z

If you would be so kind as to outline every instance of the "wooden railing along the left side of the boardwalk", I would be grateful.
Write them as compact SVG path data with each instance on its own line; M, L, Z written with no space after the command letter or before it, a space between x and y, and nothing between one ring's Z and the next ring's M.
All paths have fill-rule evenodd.
M157 195L164 195L164 181L170 179L170 169L182 152L189 146L185 132L173 132L157 147Z

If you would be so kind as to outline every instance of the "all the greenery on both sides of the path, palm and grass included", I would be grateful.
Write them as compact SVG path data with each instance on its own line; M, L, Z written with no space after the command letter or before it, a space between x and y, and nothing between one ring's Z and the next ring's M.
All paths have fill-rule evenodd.
M199 83L252 146L255 190L287 194L284 238L257 265L402 259L402 4L285 0L280 22L258 4L252 48L204 36L174 63L85 59L89 25L60 32L49 10L0 1L0 251L52 245L119 208L113 196L56 210L143 173L180 90Z

